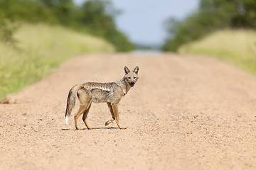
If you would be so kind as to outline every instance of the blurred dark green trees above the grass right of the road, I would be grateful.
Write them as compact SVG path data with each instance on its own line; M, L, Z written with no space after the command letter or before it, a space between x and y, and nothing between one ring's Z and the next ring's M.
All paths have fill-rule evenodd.
M161 50L174 51L178 47L203 38L223 28L256 28L255 0L201 0L197 11L183 21L169 18L166 23L169 37Z

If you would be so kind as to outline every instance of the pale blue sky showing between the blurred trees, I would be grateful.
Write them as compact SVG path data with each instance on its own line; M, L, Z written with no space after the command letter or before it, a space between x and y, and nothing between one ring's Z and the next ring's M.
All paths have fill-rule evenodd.
M85 0L75 0L82 4ZM196 11L199 0L111 0L122 11L116 18L117 27L134 43L161 45L167 38L164 21L186 18Z

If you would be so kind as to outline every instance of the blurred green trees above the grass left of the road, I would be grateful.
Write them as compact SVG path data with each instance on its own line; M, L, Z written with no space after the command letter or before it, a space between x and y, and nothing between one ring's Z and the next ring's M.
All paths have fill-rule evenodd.
M0 39L14 42L16 27L9 23L44 22L104 38L117 51L133 50L132 42L114 22L118 13L105 0L85 1L82 6L76 6L72 0L0 0Z

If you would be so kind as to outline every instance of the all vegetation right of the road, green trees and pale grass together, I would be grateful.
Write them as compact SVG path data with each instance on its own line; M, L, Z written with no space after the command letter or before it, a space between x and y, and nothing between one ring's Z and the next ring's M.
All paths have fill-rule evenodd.
M161 50L213 55L256 73L256 1L201 0L187 18L165 26Z

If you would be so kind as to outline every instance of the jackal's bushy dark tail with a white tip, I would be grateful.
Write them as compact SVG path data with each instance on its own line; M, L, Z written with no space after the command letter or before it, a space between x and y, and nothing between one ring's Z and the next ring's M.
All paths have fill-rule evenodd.
M65 111L66 124L68 124L68 116L70 116L72 109L75 107L75 98L80 88L81 88L81 85L73 86L73 88L70 89L70 92L68 94L67 108Z

